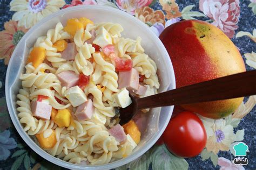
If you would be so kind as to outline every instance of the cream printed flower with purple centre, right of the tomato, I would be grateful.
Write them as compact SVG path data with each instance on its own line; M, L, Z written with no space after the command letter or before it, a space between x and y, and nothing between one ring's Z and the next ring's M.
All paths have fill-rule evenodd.
M206 149L208 152L217 154L220 151L228 151L235 140L234 128L226 125L224 119L216 120L201 118L207 133Z

